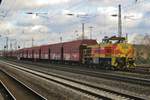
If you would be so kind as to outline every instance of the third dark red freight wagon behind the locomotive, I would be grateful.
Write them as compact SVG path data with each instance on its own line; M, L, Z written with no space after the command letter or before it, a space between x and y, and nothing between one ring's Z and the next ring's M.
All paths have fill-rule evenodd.
M50 45L41 46L41 59L50 59Z

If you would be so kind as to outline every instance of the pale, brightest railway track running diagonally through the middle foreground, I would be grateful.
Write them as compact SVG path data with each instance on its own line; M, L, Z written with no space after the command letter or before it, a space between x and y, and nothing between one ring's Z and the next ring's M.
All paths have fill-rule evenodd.
M21 71L25 71L27 73L30 74L34 74L38 77L42 77L44 79L53 81L55 83L61 84L63 86L66 86L67 88L71 88L73 90L76 90L78 92L81 92L85 95L90 96L91 98L94 99L104 99L104 100L144 100L142 98L139 97L135 97L135 96L130 96L127 94L123 94L123 93L118 93L116 91L112 91L112 90L108 90L105 88L100 88L85 82L81 82L75 79L70 79L70 78L66 78L66 77L62 77L60 75L57 74L49 74L49 73L44 73L41 71L35 71L33 69L29 69L29 68L25 68L25 66L18 66L18 65L14 65L11 63L7 63L4 61L1 61L1 63L11 67L11 68L15 68L17 70L21 70Z

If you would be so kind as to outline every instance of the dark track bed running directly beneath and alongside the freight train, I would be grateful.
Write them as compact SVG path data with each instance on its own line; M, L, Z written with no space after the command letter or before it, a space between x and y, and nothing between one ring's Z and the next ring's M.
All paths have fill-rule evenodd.
M2 59L4 60L4 59ZM94 73L114 73L116 72L115 74L118 74L118 75L122 75L123 76L132 76L132 77L139 77L139 78L144 78L144 79L150 79L150 67L137 67L136 69L128 69L128 70L125 70L125 71L111 71L111 70L103 70L103 69L94 69L94 68L87 68L87 67L83 67L83 66L77 66L77 65L73 65L73 68L72 66L70 65L60 65L60 64L49 64L48 62L45 62L45 63L40 63L40 62L31 62L31 61L17 61L17 60L14 60L14 59L6 59L7 61L10 61L10 62L17 62L17 63L23 63L23 64L30 64L30 65L36 65L36 66L42 66L42 67L45 67L45 68L53 68L53 69L56 69L56 70L63 70L63 71L71 71L74 73L73 70L76 71L76 69L82 69L82 71L86 70L88 72L94 72ZM54 66L54 67L53 67ZM62 67L62 68L61 68ZM121 76L122 76L121 75ZM100 76L100 75L99 75Z

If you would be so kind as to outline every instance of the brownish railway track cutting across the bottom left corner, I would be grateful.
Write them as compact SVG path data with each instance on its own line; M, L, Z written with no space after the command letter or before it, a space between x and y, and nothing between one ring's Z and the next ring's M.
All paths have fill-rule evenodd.
M9 98L4 100L47 100L9 73L0 70L0 75L1 83L9 93Z

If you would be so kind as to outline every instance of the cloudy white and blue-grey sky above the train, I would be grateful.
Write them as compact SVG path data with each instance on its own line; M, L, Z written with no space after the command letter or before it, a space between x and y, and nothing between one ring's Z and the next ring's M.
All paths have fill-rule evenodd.
M81 23L85 23L85 35L101 41L105 35L117 35L118 4L122 5L123 34L129 34L129 42L136 35L150 33L150 0L3 0L0 7L0 48L6 43L31 46L75 40L81 36ZM48 13L28 15L26 12ZM75 16L66 14L73 13ZM86 15L86 17L77 17ZM126 17L124 17L126 16Z

